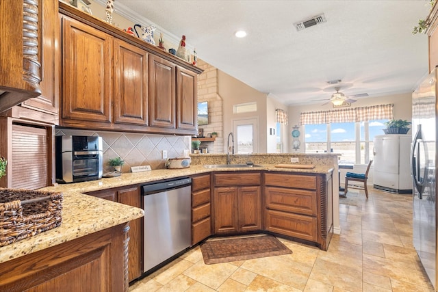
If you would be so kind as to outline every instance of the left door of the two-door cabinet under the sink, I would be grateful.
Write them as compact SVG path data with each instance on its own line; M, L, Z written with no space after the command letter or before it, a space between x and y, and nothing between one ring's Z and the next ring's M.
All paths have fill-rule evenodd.
M237 187L214 189L214 233L235 233L237 226Z

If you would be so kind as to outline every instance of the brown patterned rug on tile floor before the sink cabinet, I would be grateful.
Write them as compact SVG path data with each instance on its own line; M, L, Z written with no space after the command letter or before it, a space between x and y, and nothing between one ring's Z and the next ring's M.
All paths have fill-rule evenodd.
M229 263L251 258L292 254L283 243L272 235L247 235L209 239L201 244L204 263Z

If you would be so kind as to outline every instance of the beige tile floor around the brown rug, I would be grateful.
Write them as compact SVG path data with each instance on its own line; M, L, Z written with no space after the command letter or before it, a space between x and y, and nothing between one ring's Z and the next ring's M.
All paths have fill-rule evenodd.
M280 239L293 254L205 265L196 247L129 291L433 291L412 245L411 196L350 189L340 224L327 252Z

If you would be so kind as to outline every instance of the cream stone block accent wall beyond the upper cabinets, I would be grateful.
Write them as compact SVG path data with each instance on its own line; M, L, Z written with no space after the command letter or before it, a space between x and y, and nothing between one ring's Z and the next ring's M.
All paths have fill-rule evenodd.
M224 125L223 125L223 103L218 94L218 69L203 60L198 59L198 67L204 72L198 76L198 102L208 102L209 123L199 127L204 130L204 135L217 132L215 142L203 142L202 146L207 146L210 153L221 153L224 148Z

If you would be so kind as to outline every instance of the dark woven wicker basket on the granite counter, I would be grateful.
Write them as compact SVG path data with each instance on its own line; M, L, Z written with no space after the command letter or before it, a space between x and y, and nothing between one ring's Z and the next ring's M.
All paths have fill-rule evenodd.
M62 198L62 193L0 188L0 246L60 226Z

